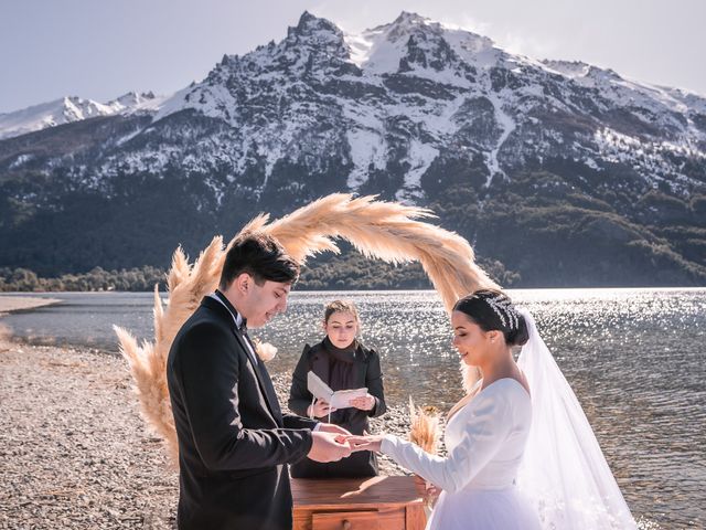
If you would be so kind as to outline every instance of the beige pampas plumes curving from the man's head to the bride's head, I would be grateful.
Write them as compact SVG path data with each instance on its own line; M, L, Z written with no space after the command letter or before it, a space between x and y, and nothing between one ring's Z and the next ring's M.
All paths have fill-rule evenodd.
M474 262L471 245L454 232L420 221L434 214L426 209L374 197L352 199L334 193L257 227L274 235L287 252L303 262L307 256L339 252L333 237L347 240L367 257L389 263L419 262L450 311L456 300L481 287L498 288Z

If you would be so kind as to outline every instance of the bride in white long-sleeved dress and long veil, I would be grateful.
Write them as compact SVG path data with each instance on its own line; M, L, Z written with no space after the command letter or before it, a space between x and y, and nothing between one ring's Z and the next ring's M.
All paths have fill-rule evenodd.
M462 362L483 379L449 412L448 455L393 435L349 438L442 490L427 529L637 528L532 316L500 292L478 290L457 301L451 324ZM517 363L513 346L523 346Z

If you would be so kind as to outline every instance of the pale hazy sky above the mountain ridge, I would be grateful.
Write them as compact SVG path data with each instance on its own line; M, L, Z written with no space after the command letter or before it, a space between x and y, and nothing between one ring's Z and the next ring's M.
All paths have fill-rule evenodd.
M170 94L304 10L347 31L413 11L535 59L706 95L706 0L0 0L0 113L76 95Z

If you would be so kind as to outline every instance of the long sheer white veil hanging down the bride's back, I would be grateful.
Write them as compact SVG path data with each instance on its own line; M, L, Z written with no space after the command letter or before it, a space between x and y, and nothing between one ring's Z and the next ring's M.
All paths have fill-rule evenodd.
M533 422L517 484L542 527L556 530L635 529L637 524L574 391L521 309L530 340L517 364L530 383Z

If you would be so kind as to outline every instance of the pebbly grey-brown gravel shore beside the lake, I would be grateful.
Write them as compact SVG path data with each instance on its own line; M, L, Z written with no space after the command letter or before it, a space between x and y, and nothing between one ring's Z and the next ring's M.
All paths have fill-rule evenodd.
M289 374L275 377L286 403ZM404 405L373 432L407 433ZM403 473L386 458L385 475ZM126 362L0 337L0 529L172 529L178 474L138 412Z

